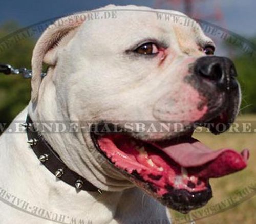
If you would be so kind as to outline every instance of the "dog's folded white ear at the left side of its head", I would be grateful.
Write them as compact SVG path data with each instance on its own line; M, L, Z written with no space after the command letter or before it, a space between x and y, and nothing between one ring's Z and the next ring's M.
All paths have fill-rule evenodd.
M80 16L80 17L79 17ZM57 61L58 50L66 45L76 33L84 20L82 14L63 17L50 25L38 39L32 56L31 100L37 100L41 83L42 64L45 62L54 66Z

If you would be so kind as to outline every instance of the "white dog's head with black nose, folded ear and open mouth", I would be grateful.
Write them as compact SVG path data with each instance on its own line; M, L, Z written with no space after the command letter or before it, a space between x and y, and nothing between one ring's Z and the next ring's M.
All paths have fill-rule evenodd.
M119 122L122 133L84 133L76 138L87 147L58 153L83 175L83 163L77 161L82 158L90 170L101 169L88 159L98 151L117 173L163 204L187 212L211 198L210 177L246 166L246 152L212 152L191 137L195 123L211 123L214 133L226 130L239 110L236 69L214 51L214 42L200 26L175 11L109 6L62 18L34 49L33 106L42 113L52 97L58 109L52 104L55 112L47 112L49 118L60 119L58 114L90 121L92 127ZM41 80L43 61L49 69ZM143 130L161 122L169 129L131 130L127 122L143 123ZM177 122L183 126L180 131L175 131ZM216 128L219 122L226 128ZM97 185L99 178L91 181Z

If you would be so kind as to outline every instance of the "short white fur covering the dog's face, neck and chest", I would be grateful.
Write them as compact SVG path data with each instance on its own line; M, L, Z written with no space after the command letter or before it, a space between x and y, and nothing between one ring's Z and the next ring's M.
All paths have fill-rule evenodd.
M32 100L16 120L25 121L27 111L32 120L41 121L196 120L202 116L200 111L191 113L201 99L183 82L187 65L203 56L198 44L210 41L199 26L159 21L147 7L111 5L103 9L127 11L117 11L116 19L65 22L61 26L56 22L42 34L32 58ZM58 46L50 49L63 34ZM135 58L124 53L143 38L169 44L163 65L158 66L159 58ZM41 81L43 61L51 67ZM186 92L181 93L181 88ZM193 102L189 94L194 96ZM177 96L180 102L176 105L173 99ZM100 187L103 195L76 193L73 187L56 181L29 148L26 133L4 133L0 138L0 187L31 205L97 224L167 219L164 206L99 161L101 156L88 133L46 133L45 138L70 169ZM0 210L0 223L50 223L3 203Z

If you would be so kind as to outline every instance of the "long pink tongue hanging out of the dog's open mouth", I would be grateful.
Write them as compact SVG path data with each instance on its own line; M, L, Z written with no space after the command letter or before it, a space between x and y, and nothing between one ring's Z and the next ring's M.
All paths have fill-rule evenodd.
M189 138L178 144L153 143L180 166L189 168L202 178L224 176L247 166L249 151L240 153L232 149L213 151L196 139Z

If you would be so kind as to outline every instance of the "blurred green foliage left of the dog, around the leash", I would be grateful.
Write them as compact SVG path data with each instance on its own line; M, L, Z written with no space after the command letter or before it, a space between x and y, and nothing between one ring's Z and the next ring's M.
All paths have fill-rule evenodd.
M19 29L14 21L0 27L0 38ZM35 41L26 38L14 43L0 54L0 63L8 63L15 68L31 68L31 56ZM30 99L30 80L18 75L0 74L0 122L10 123Z

